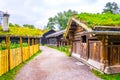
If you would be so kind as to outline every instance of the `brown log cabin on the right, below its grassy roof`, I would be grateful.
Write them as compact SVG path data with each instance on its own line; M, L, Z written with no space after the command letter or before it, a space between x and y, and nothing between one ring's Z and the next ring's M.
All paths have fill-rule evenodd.
M86 16L90 19L94 15ZM99 19L97 16L96 18ZM108 18L111 19L105 17L103 20ZM120 73L120 24L105 24L107 23L90 27L79 16L74 16L69 19L64 36L71 43L72 56L100 72Z

